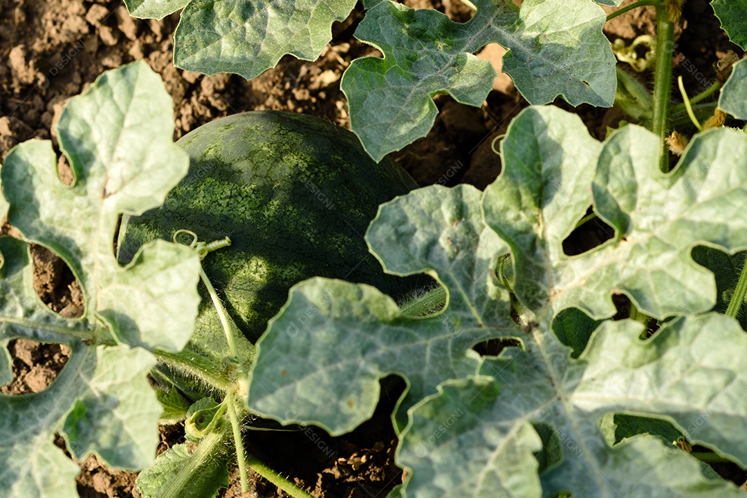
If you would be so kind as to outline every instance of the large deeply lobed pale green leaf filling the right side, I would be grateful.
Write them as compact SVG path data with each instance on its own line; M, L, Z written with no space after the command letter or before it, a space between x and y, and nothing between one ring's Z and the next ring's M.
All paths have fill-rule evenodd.
M657 424L619 444L599 429L609 414L654 417L747 462L734 438L747 423L747 403L735 399L747 365L728 352L747 339L732 318L698 315L716 303L716 285L690 256L696 245L747 248L747 173L737 167L747 136L700 133L669 174L658 151L636 125L599 143L570 113L522 111L501 142L503 172L483 195L420 189L383 205L368 230L387 271L439 280L444 309L413 319L366 286L300 283L258 344L249 407L339 434L371 415L376 380L403 376L395 415L408 497L736 493L664 444L672 432ZM562 242L589 204L616 235L568 256ZM506 247L486 227L508 246L512 274L498 266ZM642 325L609 321L619 293L655 318L689 318L642 341ZM577 324L583 330L568 330ZM521 347L477 359L468 373L469 348L491 336Z

